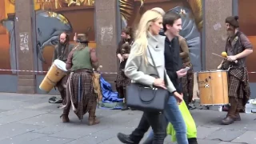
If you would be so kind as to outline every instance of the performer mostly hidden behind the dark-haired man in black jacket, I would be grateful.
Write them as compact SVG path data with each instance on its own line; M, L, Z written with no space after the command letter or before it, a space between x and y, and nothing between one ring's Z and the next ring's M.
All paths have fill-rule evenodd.
M186 106L189 107L189 103L192 102L194 88L193 66L190 62L190 51L186 39L179 35L178 42L180 45L179 56L182 58L182 68L190 67L186 75L181 78L183 99L186 102Z

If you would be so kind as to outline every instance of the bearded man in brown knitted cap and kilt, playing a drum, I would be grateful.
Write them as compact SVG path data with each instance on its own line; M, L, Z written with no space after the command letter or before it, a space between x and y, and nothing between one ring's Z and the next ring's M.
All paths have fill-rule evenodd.
M222 124L225 125L229 125L234 121L241 121L239 111L244 109L246 102L250 98L246 57L253 52L253 46L246 35L239 31L238 28L238 16L226 18L228 38L225 51L228 56L218 66L218 69L222 70L227 70L230 67L228 71L230 109L226 118L222 119ZM234 62L236 60L238 60L237 63Z

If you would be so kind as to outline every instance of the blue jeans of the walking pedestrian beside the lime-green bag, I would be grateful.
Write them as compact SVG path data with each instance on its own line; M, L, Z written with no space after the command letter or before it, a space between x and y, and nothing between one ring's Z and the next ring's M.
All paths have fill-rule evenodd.
M189 142L186 137L186 124L182 117L182 113L178 108L177 100L174 98L174 96L170 96L164 114L168 122L174 126L178 144L188 144ZM167 126L168 124L165 123L165 125ZM148 135L146 141L150 142L150 139L152 138L154 138L154 132L153 130L150 130L150 134Z

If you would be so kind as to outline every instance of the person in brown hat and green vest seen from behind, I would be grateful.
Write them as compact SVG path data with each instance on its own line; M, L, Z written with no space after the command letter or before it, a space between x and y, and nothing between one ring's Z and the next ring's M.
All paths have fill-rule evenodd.
M66 61L66 70L70 70L70 76L67 81L67 104L62 114L62 122L70 122L68 118L70 107L72 106L74 113L82 120L83 115L89 113L88 125L96 125L99 123L95 112L97 107L97 94L94 92L92 75L93 68L98 68L98 58L96 50L88 47L86 34L78 34L74 38L77 45L70 52Z

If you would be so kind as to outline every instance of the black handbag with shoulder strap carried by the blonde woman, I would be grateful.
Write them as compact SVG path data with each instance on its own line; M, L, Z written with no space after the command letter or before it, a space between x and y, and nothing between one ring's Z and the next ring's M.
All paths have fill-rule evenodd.
M149 52L150 49L148 48ZM152 54L154 69L158 72ZM166 81L166 73L164 74ZM159 78L159 74L158 74ZM157 86L145 86L140 83L131 83L126 86L126 105L135 110L148 112L162 112L165 109L166 103L170 97L170 92Z

